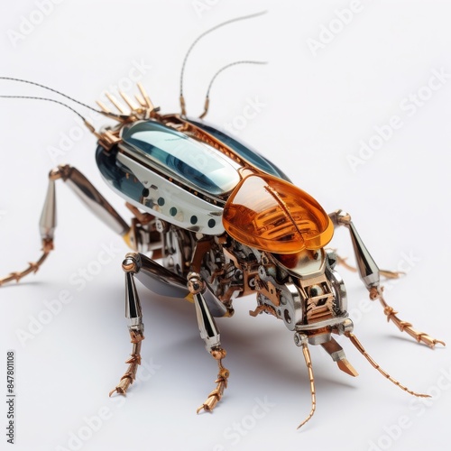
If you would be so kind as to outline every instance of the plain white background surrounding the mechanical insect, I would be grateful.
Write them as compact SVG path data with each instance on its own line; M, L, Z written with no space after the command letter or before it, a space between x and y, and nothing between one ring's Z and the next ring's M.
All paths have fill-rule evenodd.
M449 2L67 0L53 5L41 23L18 38L14 32L21 32L23 17L40 22L37 4L1 6L2 75L31 79L94 105L107 87L128 88L127 74L140 62L141 81L166 113L179 112L179 69L189 43L217 23L268 9L199 43L185 80L189 114L201 112L208 82L223 65L269 61L221 74L207 118L237 125L238 136L275 161L327 211L349 211L380 266L400 265L409 272L391 284L388 302L420 330L451 341L451 78L441 87L436 80L437 90L428 91L433 70L451 73ZM336 11L351 5L358 12L344 25ZM334 32L325 43L329 26ZM320 38L314 54L308 42ZM414 110L409 96L419 91L424 105ZM0 93L47 95L5 81ZM133 95L133 89L127 93ZM240 116L250 100L264 106L244 121ZM95 138L82 133L78 139L75 115L46 102L0 102L3 275L38 255L46 174L55 164L77 166L126 212L99 178ZM402 126L353 170L348 155L358 157L359 142L368 143L376 135L374 127L389 124L393 115ZM52 159L50 149L60 147L61 133L72 133L78 141ZM131 350L120 267L127 249L66 187L58 187L58 198L56 251L36 275L0 290L0 393L5 393L6 351L16 354L15 450L75 449L72 434L81 434L83 450L447 448L449 350L417 345L387 324L382 308L370 304L363 285L345 269L340 272L356 336L393 377L432 394L428 405L385 381L350 342L340 339L360 376L338 371L322 349L311 347L318 410L297 431L310 408L301 351L275 318L249 317L255 301L246 298L235 301L234 318L218 320L231 372L225 397L213 414L196 415L214 388L216 364L198 337L192 305L145 290L143 360L153 365L152 377L144 368L125 402L109 399ZM346 232L338 230L335 240L333 245L352 261ZM96 267L92 262L102 246L113 249L114 258L78 290L74 278L80 269ZM72 301L21 344L18 331L28 332L32 318L49 318L42 313L44 301L57 299L61 290L68 290ZM6 449L2 397L0 447ZM270 407L262 415L255 406L265 399ZM102 425L88 429L86 419L99 410L105 414Z

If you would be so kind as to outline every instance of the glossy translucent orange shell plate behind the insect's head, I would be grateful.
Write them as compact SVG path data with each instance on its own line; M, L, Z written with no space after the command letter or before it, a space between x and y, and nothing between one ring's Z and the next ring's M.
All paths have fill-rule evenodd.
M236 241L271 253L324 247L334 226L318 202L302 189L270 175L249 175L230 195L223 224Z

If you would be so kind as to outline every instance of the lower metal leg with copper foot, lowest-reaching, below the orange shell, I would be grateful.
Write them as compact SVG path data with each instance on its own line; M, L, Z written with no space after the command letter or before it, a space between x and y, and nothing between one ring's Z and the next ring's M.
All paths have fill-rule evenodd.
M217 379L215 381L217 384L216 389L208 394L207 400L198 408L198 412L201 410L211 412L215 409L216 404L221 400L227 388L227 380L230 375L229 371L222 364L222 359L226 357L226 351L221 347L219 329L202 295L205 288L205 282L201 276L197 272L189 272L188 289L194 299L200 337L205 342L207 352L213 356L219 367L219 373L217 373Z

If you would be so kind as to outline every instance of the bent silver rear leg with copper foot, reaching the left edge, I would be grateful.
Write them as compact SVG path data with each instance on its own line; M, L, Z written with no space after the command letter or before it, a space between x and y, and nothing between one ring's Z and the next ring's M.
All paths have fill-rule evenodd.
M129 227L124 219L118 215L113 207L105 198L97 191L97 189L89 182L89 180L76 168L69 165L60 165L58 168L51 170L49 173L49 188L42 207L41 219L39 222L41 239L42 239L42 255L37 262L28 263L29 266L22 272L12 272L3 279L0 279L0 286L9 281L20 281L26 275L37 272L41 264L47 259L47 256L53 250L53 237L56 228L56 196L55 181L62 179L69 187L78 195L89 209L100 218L106 226L111 227L116 233L124 235L128 232Z

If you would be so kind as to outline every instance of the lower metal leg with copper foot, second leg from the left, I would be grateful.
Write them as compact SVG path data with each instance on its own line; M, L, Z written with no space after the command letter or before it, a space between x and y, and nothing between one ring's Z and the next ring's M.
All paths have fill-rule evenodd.
M121 377L120 382L110 391L125 394L128 387L136 378L138 366L141 364L141 343L144 339L143 313L141 302L136 290L133 276L141 269L139 253L127 253L122 267L125 272L125 317L128 319L128 329L133 344L132 354L125 364L129 364L127 371Z

